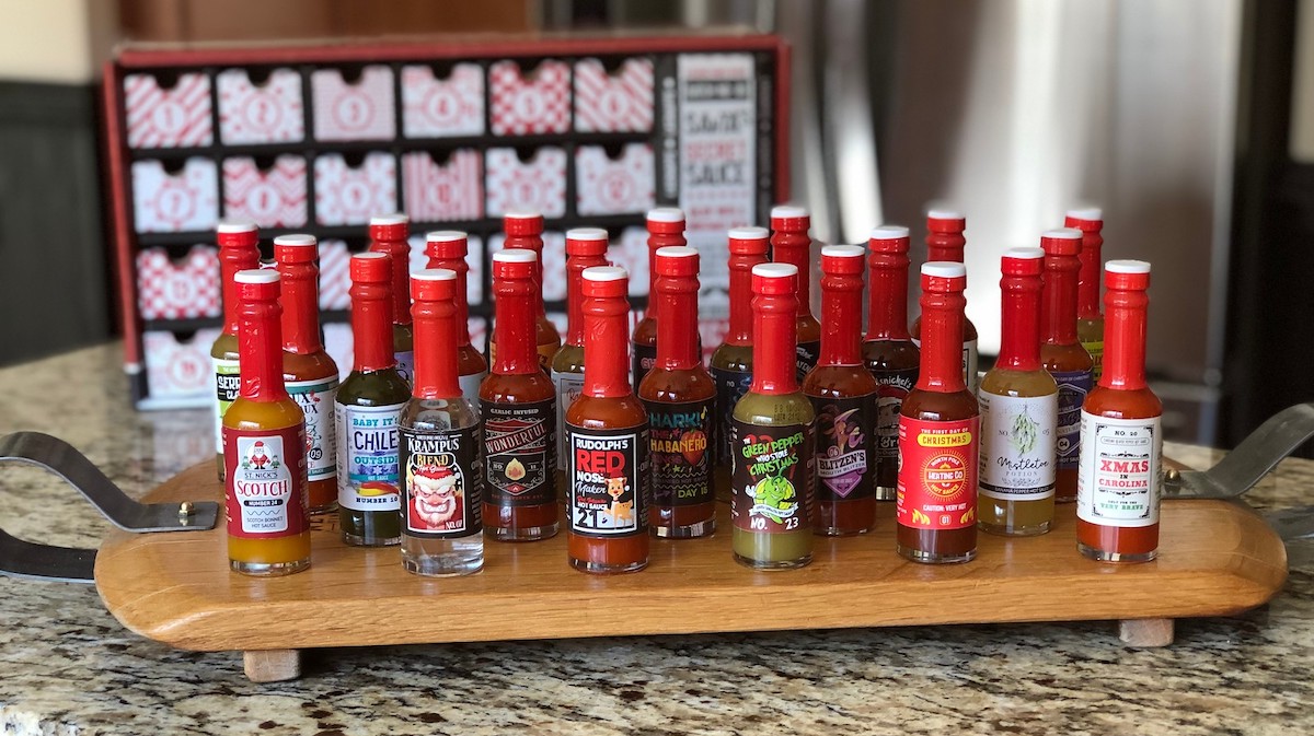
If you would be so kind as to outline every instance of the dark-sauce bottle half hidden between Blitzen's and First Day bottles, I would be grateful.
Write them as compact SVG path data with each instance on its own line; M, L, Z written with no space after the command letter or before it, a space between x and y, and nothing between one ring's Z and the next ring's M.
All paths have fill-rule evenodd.
M921 353L908 335L908 228L878 227L867 240L871 251L867 287L867 337L862 356L876 379L876 422L872 464L876 499L895 500L899 483L899 409L917 384Z

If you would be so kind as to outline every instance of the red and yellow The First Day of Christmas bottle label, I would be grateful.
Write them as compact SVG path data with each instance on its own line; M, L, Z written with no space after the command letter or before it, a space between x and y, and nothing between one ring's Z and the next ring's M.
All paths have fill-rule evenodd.
M895 518L912 529L967 529L976 523L980 417L924 421L899 417Z

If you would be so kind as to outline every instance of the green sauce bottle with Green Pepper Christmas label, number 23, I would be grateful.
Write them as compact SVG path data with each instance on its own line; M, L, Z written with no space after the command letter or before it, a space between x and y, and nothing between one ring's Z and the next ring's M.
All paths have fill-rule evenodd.
M731 547L757 569L812 562L816 415L798 384L798 281L791 264L753 266L753 384L731 422Z

